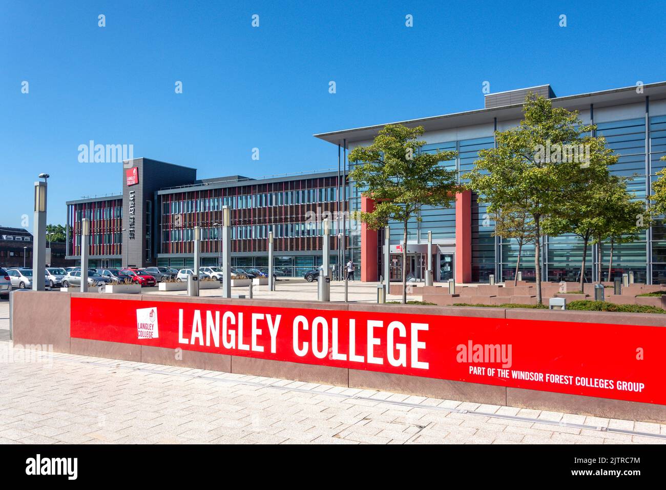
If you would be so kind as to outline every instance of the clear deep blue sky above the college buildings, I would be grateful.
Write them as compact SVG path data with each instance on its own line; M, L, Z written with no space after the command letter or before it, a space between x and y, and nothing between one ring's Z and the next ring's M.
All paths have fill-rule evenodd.
M68 199L119 193L121 164L79 163L89 140L199 178L332 168L336 147L312 134L478 109L484 81L557 95L664 81L665 26L664 1L1 0L0 225L32 217L41 172L49 223Z

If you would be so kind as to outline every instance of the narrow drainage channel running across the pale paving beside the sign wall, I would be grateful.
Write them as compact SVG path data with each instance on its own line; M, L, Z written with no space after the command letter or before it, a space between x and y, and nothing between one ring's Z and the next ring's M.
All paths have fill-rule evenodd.
M470 415L478 415L480 417L493 417L495 419L505 419L505 420L511 420L511 421L520 421L520 422L527 422L527 423L539 423L543 425L554 425L557 427L572 427L574 429L587 429L590 431L599 431L599 432L610 432L610 433L617 433L617 434L625 434L625 435L639 435L642 437L652 437L654 439L666 439L666 435L663 434L653 434L649 432L639 432L639 431L629 431L627 429L611 429L609 427L600 427L598 425L585 425L585 424L579 424L579 423L571 423L571 422L557 422L557 421L552 421L552 420L543 420L543 419L533 419L531 417L518 417L517 415L503 415L500 413L487 413L487 412L482 412L482 411L476 411L476 410L466 410L466 409L456 409L452 407L433 407L430 405L419 405L418 403L409 403L406 401L396 401L396 400L382 400L382 399L377 399L377 398L372 398L372 397L361 397L358 395L344 395L342 393L329 393L328 391L318 391L316 389L308 389L308 388L290 388L286 386L281 386L281 385L276 385L275 383L278 383L278 381L275 381L274 383L257 383L256 381L242 381L238 379L224 379L224 378L218 378L218 377L212 377L212 376L206 376L206 375L195 375L195 374L188 374L188 373L172 373L170 371L162 371L160 369L150 369L147 367L133 367L133 366L123 366L123 365L113 365L111 363L103 363L99 361L82 361L81 359L68 359L67 357L55 357L55 359L59 359L61 361L69 361L73 363L79 363L79 364L89 364L89 365L95 365L95 366L101 366L101 367L108 367L108 368L113 368L113 369L129 369L131 371L141 371L142 373L152 373L152 374L159 374L159 375L168 375L168 376L180 376L180 377L186 377L190 379L204 379L205 381L216 381L218 383L227 383L230 385L246 385L246 386L254 386L254 387L259 387L259 388L272 388L272 389L280 389L284 391L295 391L296 393L310 393L310 394L316 394L316 395L326 395L329 397L337 397L337 398L344 398L344 399L355 399L355 400L362 400L362 401L371 401L373 403L385 403L387 405L398 405L400 407L412 407L412 408L420 408L420 409L428 409L428 410L433 410L433 411L444 411L444 412L452 412L452 413L468 413ZM194 368L192 368L194 369Z

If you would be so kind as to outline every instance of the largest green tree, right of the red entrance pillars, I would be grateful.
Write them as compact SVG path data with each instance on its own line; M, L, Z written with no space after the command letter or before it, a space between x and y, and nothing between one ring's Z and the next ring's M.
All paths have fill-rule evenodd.
M607 150L593 138L577 112L552 107L551 101L527 95L520 125L495 133L497 147L480 151L474 169L464 177L468 187L488 203L491 213L525 201L534 222L537 302L541 297L543 221L561 212L594 174L607 171ZM581 156L582 155L582 156Z

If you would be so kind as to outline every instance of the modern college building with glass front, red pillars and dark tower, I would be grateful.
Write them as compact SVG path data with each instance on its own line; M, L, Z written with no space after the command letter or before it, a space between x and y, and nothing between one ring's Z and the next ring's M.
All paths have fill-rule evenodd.
M557 97L549 85L491 93L482 109L409 121L421 125L426 145L422 151L454 150L455 159L443 162L463 175L474 167L478 152L495 145L495 131L516 127L527 93L551 99L553 106L579 111L585 124L597 126L595 135L619 154L612 171L625 177L637 199L647 199L655 174L666 162L666 82ZM222 206L232 217L232 266L268 266L268 231L274 234L274 267L281 275L299 276L321 264L322 220L331 220L328 235L331 261L351 259L357 277L377 281L384 271L384 230L373 231L353 218L354 211L369 211L372 199L348 179L354 162L346 155L359 145L369 145L389 123L320 133L315 137L332 143L329 162L338 171L283 175L253 179L232 175L197 179L196 169L151 159L126 161L123 193L67 202L67 259L80 258L81 218L91 219L91 267L165 265L192 267L193 229L202 230L201 265L221 262ZM336 160L337 159L337 160ZM342 185L344 183L344 185ZM402 224L390 223L389 275L402 276ZM428 232L432 249L428 250ZM424 207L420 221L408 229L407 273L424 280L428 254L434 279L458 283L513 279L517 245L494 236L494 222L475 193L452 197L450 207ZM579 277L582 242L575 235L544 237L542 277L574 281ZM601 245L603 277L597 278L597 245L588 249L585 275L588 281L608 280L609 244ZM523 280L534 278L533 247L523 247ZM611 279L633 271L637 282L666 282L666 233L661 221L643 231L637 241L615 244Z

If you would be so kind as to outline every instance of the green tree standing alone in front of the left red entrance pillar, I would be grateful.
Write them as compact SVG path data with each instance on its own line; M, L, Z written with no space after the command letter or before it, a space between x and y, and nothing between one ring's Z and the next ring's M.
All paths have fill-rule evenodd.
M349 155L350 161L357 162L350 179L376 203L374 211L358 213L360 220L370 229L380 229L390 219L402 223L402 303L407 303L408 222L421 220L419 211L424 205L450 207L458 190L456 171L440 164L455 158L456 152L422 152L426 142L418 137L423 133L422 126L386 125L372 145L356 147Z

